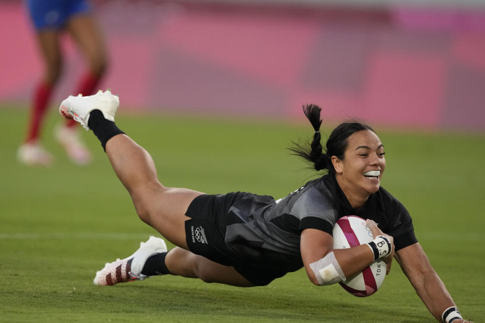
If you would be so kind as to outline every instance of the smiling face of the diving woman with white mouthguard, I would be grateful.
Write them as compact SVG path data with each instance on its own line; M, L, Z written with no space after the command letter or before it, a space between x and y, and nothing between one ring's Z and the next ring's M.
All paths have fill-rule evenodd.
M355 132L347 138L344 158L332 156L331 160L338 185L352 207L361 207L379 189L385 169L384 146L374 132Z

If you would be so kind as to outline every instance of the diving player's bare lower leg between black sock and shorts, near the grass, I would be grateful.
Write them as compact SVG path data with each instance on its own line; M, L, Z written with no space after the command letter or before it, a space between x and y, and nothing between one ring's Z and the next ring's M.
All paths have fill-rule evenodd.
M237 287L254 286L233 267L222 265L178 247L167 253L165 264L170 273L177 276L199 278L206 283L220 283Z

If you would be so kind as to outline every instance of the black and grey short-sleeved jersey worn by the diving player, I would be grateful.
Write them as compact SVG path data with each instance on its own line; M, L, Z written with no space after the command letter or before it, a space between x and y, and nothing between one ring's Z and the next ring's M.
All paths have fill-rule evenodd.
M224 240L228 249L239 259L261 265L279 263L287 272L303 266L300 235L304 229L331 235L335 222L344 216L374 220L394 237L396 250L417 242L409 212L389 192L380 187L357 210L333 175L312 180L277 201L271 196L247 194L227 215Z

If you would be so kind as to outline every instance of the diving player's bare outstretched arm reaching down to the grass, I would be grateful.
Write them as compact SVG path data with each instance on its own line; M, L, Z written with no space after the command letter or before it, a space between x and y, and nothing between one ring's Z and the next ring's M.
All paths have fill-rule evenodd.
M439 321L443 321L443 312L456 305L445 284L429 263L421 245L415 243L400 249L396 252L395 258L429 312ZM469 321L460 318L453 320L453 323L466 322Z

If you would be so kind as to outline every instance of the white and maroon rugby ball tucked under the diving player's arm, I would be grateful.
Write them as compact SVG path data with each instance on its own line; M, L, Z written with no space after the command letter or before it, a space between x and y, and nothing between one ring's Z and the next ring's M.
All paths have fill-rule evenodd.
M333 227L333 249L352 248L368 243L374 238L365 220L356 216L338 219ZM339 283L346 291L358 297L374 294L385 277L385 262L377 259L357 275Z

